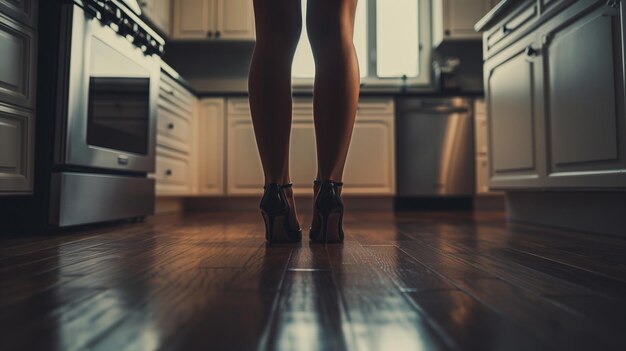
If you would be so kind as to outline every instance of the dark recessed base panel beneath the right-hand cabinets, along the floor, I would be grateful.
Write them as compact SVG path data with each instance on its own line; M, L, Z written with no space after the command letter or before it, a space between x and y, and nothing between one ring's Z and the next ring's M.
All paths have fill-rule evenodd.
M509 192L507 220L626 236L626 192Z

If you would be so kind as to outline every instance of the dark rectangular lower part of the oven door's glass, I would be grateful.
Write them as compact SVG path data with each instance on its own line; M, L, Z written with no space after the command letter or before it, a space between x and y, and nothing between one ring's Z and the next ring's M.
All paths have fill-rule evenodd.
M148 154L150 79L89 79L87 143Z

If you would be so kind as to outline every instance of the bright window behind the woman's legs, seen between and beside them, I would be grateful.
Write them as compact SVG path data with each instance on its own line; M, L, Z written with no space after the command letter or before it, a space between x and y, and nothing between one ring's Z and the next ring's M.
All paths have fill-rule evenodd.
M310 0L314 1L314 0ZM306 22L306 3L302 16ZM354 46L364 82L428 82L428 52L425 35L430 25L427 0L359 0L354 28ZM425 26L426 25L426 26ZM306 23L293 63L293 77L304 80L315 76L315 63Z

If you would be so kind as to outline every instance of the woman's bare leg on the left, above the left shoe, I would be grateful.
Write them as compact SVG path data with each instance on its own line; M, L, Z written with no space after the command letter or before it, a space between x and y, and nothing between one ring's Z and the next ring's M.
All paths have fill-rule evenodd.
M290 182L291 64L302 30L300 0L254 0L256 45L248 91L265 184ZM297 227L291 189L285 189L292 228Z

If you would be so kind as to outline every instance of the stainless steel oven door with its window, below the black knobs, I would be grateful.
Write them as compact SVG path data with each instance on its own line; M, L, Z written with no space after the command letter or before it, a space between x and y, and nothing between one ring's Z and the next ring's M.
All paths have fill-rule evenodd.
M160 58L71 5L64 133L57 164L128 172L154 171ZM64 118L65 117L65 118Z

